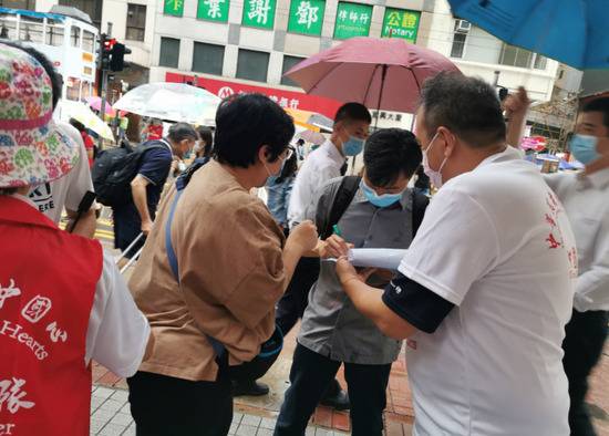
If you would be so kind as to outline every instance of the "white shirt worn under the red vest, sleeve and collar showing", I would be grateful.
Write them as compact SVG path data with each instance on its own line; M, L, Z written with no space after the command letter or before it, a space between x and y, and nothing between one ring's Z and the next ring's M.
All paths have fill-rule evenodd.
M38 209L30 198L13 197ZM149 335L148 320L135 305L114 259L104 251L89 315L84 364L94 360L114 374L130 377L142 363Z

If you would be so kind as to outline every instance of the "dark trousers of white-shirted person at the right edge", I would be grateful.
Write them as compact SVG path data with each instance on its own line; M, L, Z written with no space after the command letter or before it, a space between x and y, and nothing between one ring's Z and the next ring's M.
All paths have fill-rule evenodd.
M596 432L584 401L588 392L588 375L598 363L607 338L608 312L574 310L565 328L562 365L569 380L569 426L574 436L592 436Z

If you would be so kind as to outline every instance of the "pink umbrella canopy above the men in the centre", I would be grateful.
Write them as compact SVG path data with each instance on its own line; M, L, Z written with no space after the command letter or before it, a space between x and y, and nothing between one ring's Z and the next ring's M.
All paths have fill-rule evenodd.
M442 54L401 39L352 38L286 75L308 94L413 113L421 85L441 71L460 70Z

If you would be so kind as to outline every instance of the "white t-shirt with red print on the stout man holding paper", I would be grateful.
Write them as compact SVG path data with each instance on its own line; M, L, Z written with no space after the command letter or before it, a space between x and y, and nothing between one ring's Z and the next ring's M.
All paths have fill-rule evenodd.
M569 434L575 239L533 164L508 148L451 179L400 271L455 304L407 341L415 435Z

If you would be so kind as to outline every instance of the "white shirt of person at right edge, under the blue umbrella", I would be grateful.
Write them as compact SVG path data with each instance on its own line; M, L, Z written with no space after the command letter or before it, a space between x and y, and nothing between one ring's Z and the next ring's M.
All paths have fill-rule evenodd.
M574 307L609 310L609 168L582 176L558 173L546 181L571 221L579 258Z

